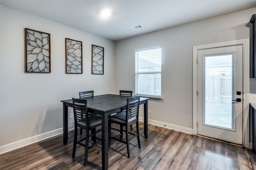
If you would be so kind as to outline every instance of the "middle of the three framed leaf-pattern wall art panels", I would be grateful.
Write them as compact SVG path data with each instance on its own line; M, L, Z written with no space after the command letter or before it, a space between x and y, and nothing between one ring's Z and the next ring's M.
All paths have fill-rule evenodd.
M66 38L66 73L82 74L82 42Z

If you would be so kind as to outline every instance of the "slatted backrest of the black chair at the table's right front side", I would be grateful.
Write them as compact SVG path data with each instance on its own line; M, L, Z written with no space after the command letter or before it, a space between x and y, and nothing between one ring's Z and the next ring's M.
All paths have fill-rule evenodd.
M127 98L126 123L132 117L139 118L140 96Z

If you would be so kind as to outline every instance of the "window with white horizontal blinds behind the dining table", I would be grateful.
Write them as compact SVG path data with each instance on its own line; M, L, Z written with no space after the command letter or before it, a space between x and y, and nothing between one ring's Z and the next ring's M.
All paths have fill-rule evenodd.
M134 52L136 95L161 97L161 46Z

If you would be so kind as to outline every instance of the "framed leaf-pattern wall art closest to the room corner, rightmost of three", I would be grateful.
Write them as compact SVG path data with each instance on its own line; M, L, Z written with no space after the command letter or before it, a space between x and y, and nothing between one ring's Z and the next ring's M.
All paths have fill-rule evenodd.
M92 45L92 74L104 74L104 47Z

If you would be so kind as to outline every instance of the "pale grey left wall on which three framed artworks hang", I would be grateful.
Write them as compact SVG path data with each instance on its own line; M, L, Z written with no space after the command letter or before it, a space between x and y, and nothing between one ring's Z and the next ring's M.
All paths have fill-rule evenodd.
M2 4L0 16L0 146L62 128L60 100L79 91L115 92L114 42ZM24 73L24 28L51 34L52 73ZM65 74L65 38L83 42L83 74ZM104 47L104 75L91 74L92 44Z

